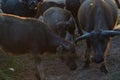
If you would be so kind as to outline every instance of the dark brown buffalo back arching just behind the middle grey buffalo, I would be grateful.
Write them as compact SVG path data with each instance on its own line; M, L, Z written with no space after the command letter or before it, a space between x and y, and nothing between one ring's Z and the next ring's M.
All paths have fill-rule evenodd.
M64 4L52 1L44 1L43 3L39 3L37 6L37 14L35 15L35 18L39 18L40 16L42 16L43 13L50 7L64 8Z

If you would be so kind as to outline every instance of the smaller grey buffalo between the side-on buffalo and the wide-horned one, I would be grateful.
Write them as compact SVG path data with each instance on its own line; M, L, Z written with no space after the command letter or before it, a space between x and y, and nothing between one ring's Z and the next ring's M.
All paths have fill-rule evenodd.
M51 7L44 12L43 21L54 33L74 42L75 22L69 11Z

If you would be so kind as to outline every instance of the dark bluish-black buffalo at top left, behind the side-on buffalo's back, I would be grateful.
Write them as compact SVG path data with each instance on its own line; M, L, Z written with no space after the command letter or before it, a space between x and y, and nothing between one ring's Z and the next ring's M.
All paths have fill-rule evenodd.
M34 17L36 4L41 0L1 0L1 9L4 13L19 16Z

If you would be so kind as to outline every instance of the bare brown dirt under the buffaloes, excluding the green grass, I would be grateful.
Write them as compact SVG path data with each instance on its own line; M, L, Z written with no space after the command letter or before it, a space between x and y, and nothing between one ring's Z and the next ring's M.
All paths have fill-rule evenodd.
M110 49L107 56L107 66L109 73L105 75L100 72L100 64L91 64L90 68L84 69L84 50L85 42L82 41L80 47L77 47L78 68L75 71L70 71L68 67L63 64L55 56L44 55L42 64L46 80L120 80L120 37L112 38ZM46 57L45 57L46 56ZM24 58L25 59L25 58ZM31 64L29 61L27 64ZM31 66L33 66L31 64ZM36 80L34 76L34 69L19 71L15 80Z

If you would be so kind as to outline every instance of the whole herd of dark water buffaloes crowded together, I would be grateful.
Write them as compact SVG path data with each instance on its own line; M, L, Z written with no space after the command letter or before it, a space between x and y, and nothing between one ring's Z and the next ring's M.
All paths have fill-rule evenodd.
M70 68L77 68L77 42L86 40L85 65L100 63L108 73L106 55L116 28L118 0L1 0L0 46L12 54L32 53L36 77L45 80L41 54L56 53ZM42 18L39 20L39 18ZM77 34L77 35L76 35Z

